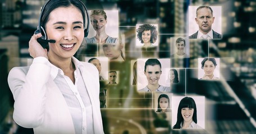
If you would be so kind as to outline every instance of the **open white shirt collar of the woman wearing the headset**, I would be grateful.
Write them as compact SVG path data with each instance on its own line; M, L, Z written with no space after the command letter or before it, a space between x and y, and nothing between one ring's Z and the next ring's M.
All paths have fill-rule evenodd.
M77 60L75 57L72 57L71 60L75 64L76 70L79 69L81 71L81 73L83 73L83 70L84 70L83 64L81 64L81 62L79 60ZM59 71L62 75L64 75L63 71L60 68L58 68L57 66L54 66L52 63L50 63L50 65L51 65L51 77L52 77L52 79L56 78Z

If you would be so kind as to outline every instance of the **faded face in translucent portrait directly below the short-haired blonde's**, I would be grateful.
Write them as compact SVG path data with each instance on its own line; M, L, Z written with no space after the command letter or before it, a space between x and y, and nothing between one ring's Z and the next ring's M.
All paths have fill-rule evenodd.
M117 45L115 43L103 44L102 47L103 47L104 55L110 60L117 59L118 56L121 55L120 45Z

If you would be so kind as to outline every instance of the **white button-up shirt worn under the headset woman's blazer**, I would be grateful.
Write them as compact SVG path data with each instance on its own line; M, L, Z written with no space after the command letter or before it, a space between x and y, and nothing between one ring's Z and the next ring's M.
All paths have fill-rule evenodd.
M72 59L76 70L75 84L72 80L64 75L60 68L51 64L51 77L54 79L57 87L61 90L66 100L73 120L75 133L94 133L92 103L84 84L82 71L84 66Z

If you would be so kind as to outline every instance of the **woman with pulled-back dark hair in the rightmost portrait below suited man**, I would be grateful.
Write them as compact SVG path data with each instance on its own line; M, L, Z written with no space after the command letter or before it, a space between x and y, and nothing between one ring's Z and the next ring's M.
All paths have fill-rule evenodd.
M214 76L214 70L216 69L217 62L214 58L204 58L201 62L201 69L204 70L203 78L204 80L218 80L220 78Z

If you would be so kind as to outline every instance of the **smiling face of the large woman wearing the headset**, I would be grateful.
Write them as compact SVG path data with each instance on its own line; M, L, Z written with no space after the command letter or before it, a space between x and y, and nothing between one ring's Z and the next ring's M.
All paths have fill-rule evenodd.
M74 7L58 7L49 14L45 25L49 43L48 55L54 58L71 58L84 39L84 21L81 11Z

